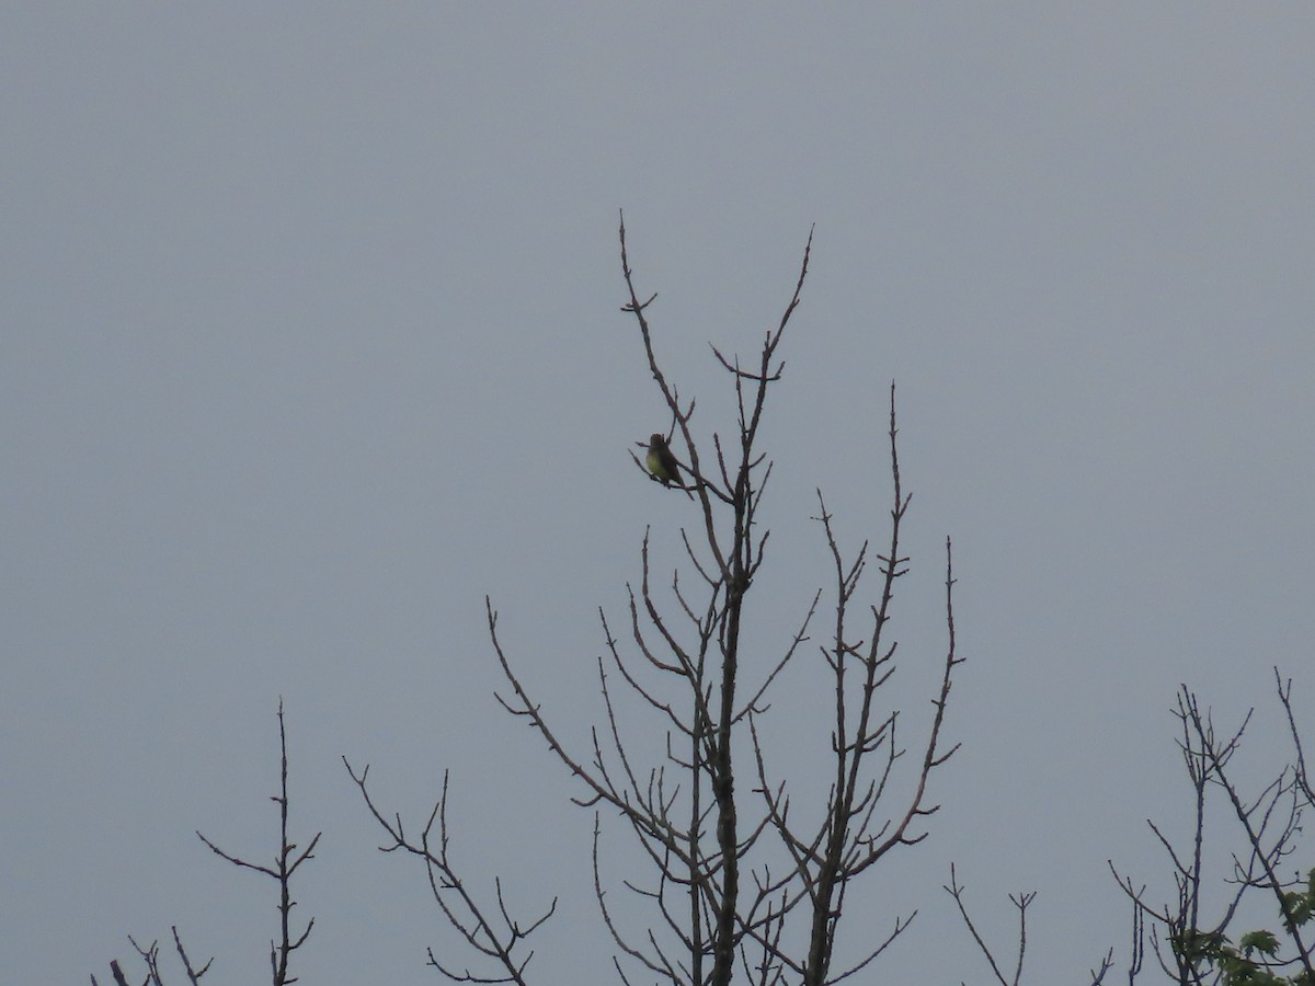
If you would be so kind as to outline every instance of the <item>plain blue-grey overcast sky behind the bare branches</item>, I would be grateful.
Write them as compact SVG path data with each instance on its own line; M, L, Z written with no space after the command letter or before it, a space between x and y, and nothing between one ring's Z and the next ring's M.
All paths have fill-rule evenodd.
M817 225L757 668L827 584L815 488L851 552L884 538L892 380L910 743L955 539L964 747L848 947L917 908L873 981L986 981L956 861L1002 947L1039 893L1026 981L1124 958L1106 860L1162 901L1145 819L1189 831L1180 682L1222 726L1258 706L1257 784L1273 665L1315 716L1312 58L1306 4L5 5L5 981L104 981L174 923L206 982L263 981L275 887L195 830L272 858L279 695L295 833L323 831L304 982L467 961L343 755L412 830L450 768L475 887L560 894L538 981L614 981L592 816L497 706L483 599L583 743L598 607L623 624L646 526L669 568L693 518L629 458L667 415L621 208L704 440L734 431L707 344L756 351ZM801 790L821 670L777 699Z

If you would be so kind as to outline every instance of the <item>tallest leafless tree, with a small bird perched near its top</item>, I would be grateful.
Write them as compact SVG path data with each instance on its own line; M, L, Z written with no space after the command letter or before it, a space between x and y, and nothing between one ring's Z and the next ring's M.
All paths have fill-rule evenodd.
M769 540L759 522L772 472L759 447L760 426L768 394L782 380L778 350L800 305L813 238L810 234L793 294L753 359L742 363L713 347L734 387L738 417L730 438L717 431L704 438L696 429L696 401L684 400L661 368L650 323L656 294L642 300L623 221L619 237L627 293L622 310L634 318L669 415L665 434L636 443L647 444L647 461L633 456L651 479L679 486L692 500L694 518L680 531L679 542L686 577L677 569L659 589L651 561L655 535L646 531L639 585L627 585L629 643L600 610L605 640L597 665L602 723L592 730L589 748L581 752L568 748L517 673L498 635L497 613L485 601L489 636L509 688L498 701L529 720L581 785L576 803L594 809L594 893L618 949L613 961L622 982L631 982L636 969L646 978L690 986L723 986L738 975L764 986L838 982L872 962L914 916L897 918L889 932L847 968L832 968L844 903L855 881L893 851L926 837L924 826L939 807L930 793L932 776L955 752L942 740L953 669L963 661L955 651L949 542L944 582L948 643L940 682L931 715L918 727L922 739L914 763L903 770L907 751L897 730L902 714L885 699L885 686L896 673L897 646L888 623L896 584L907 572L901 525L910 502L899 475L892 385L886 433L893 500L885 553L869 556L864 543L846 557L818 490L815 519L834 568L827 599L831 626L818 647L817 665L827 669L834 688L834 719L830 726L818 723L821 735L830 732L830 766L822 769L831 781L822 803L796 807L786 781L773 774L763 730L771 718L769 689L809 640L825 593L817 592L775 657L765 665L753 663L755 668L765 667L753 680L746 680L744 672L744 614ZM878 582L864 602L863 576L872 559ZM635 739L639 716L631 714L631 706L647 709L650 722L658 723L664 739L656 749L644 751ZM429 826L418 840L409 840L400 816L389 820L375 807L366 770L352 770L352 778L388 830L389 844L381 848L423 858L447 920L493 972L458 972L439 966L431 954L433 964L456 981L526 982L525 937L547 914L518 922L502 903L500 882L494 883L496 904L481 903L454 872L444 823L446 780ZM635 901L650 907L638 931L629 927L629 912L618 911L605 886L601 809L619 815L650 873L647 881L625 883ZM809 810L818 822L802 820ZM863 932L869 941L871 929L864 927Z

